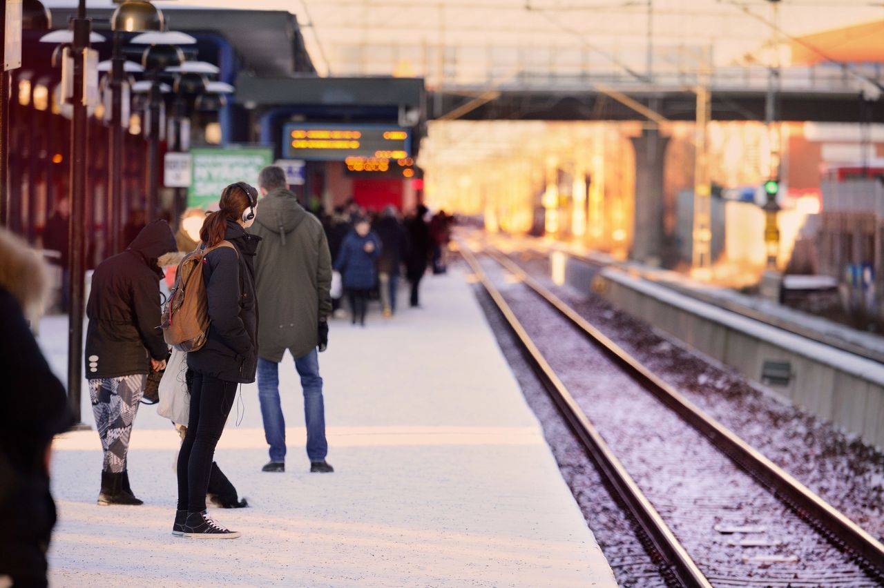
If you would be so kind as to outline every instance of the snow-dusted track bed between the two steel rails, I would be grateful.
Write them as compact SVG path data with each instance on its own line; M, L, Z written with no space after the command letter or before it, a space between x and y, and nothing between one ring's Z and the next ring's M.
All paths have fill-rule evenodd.
M484 264L486 271L502 274L493 264ZM552 368L713 584L874 585L527 287L501 287ZM734 536L715 531L719 524L760 525L765 531ZM732 543L747 539L761 544ZM771 569L755 561L772 556L796 561Z

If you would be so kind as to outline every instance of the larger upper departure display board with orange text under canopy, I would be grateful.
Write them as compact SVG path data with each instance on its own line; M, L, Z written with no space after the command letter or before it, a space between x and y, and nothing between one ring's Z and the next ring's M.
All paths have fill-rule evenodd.
M288 123L286 159L343 162L347 157L399 160L411 156L411 132L395 124Z

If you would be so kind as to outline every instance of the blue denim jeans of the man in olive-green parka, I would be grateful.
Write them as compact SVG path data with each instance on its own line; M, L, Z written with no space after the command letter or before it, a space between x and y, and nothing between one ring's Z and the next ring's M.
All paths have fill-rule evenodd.
M319 357L316 349L294 360L294 369L301 376L304 392L304 420L307 423L307 456L311 462L321 462L328 454L325 441L325 407L323 379L319 375ZM264 421L264 438L271 446L271 462L286 461L286 418L279 403L279 364L258 358L258 400Z

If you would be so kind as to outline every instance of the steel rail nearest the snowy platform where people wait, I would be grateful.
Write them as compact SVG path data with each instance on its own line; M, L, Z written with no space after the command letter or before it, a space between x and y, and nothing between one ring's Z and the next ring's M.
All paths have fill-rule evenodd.
M626 471L620 460L613 455L613 451L608 447L605 440L598 433L598 430L596 430L595 426L592 425L589 418L587 418L586 414L576 403L574 396L571 395L568 388L560 381L559 377L552 370L552 366L546 362L543 354L531 341L530 335L522 327L522 323L516 318L515 313L513 313L513 310L509 307L499 290L491 283L476 257L470 252L469 247L462 242L459 245L463 259L467 261L473 273L478 277L489 296L491 296L494 304L497 305L500 313L507 320L509 327L513 330L514 335L516 335L518 342L522 346L522 351L530 360L537 376L543 382L552 400L568 421L568 425L574 431L577 438L582 441L583 446L587 449L593 462L598 466L599 471L613 486L621 501L626 504L629 512L652 543L653 549L663 560L661 571L664 574L668 572L682 586L712 588L712 584L709 583L703 572L697 567L696 562L691 559L687 550L675 538L672 530L657 510L654 509L651 501L647 499L636 482L629 476L629 472Z

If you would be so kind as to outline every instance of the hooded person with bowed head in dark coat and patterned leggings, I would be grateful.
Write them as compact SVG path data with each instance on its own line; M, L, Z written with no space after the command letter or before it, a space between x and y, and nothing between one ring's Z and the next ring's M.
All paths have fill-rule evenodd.
M149 371L165 367L159 258L177 251L165 221L150 222L92 275L86 305L86 377L104 461L98 503L139 505L126 471L129 437Z

